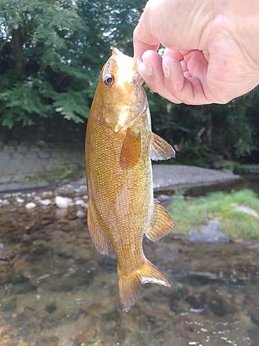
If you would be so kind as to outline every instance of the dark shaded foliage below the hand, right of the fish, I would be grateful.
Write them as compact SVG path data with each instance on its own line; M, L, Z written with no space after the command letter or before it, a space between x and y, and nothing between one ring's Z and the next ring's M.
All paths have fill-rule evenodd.
M175 145L178 163L208 166L211 157L256 158L259 138L259 91L229 104L171 104L151 100L153 129Z

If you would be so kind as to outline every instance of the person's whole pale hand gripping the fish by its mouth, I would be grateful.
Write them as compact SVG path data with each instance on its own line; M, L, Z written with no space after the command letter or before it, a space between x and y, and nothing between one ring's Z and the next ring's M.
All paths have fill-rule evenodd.
M174 103L227 103L259 84L259 1L149 0L133 44L155 93Z

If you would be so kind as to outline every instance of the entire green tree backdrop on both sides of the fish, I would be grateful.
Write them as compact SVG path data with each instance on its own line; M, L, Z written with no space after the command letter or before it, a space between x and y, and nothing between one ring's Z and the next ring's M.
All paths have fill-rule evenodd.
M99 72L117 46L133 55L145 0L0 2L0 124L61 113L85 122ZM259 91L229 104L173 104L146 88L153 130L175 146L173 163L258 161Z

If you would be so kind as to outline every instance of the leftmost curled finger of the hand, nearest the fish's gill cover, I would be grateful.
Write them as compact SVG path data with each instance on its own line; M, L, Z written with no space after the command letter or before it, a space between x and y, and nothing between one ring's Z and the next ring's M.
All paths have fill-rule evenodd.
M155 93L159 93L164 98L174 103L181 103L178 98L166 88L164 83L164 71L162 69L162 57L156 52L146 51L142 55L143 63L138 67L140 75L148 84L148 87Z

